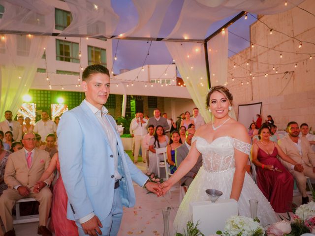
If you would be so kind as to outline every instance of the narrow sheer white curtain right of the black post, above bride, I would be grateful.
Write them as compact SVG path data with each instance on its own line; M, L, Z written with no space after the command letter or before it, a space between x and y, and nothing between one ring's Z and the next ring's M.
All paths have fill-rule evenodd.
M211 86L227 83L227 58L228 58L228 30L208 41L208 57L210 67Z

